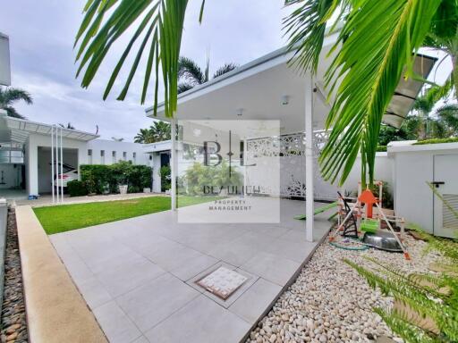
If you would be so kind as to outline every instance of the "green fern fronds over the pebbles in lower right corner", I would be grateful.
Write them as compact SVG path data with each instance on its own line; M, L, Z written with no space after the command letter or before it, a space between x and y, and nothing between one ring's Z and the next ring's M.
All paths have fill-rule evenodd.
M428 183L435 195L449 207L458 219L458 211L448 204ZM416 229L418 230L418 229ZM392 309L375 308L386 324L408 343L436 343L458 341L458 240L437 238L424 231L428 250L440 253L435 264L437 273L406 274L390 264L367 258L373 268L344 259L365 278L372 288L381 289L394 297Z

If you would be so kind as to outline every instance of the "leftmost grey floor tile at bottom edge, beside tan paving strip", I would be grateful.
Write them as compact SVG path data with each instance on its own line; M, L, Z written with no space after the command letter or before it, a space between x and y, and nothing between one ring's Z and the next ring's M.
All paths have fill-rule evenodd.
M140 330L114 301L96 308L94 315L110 343L130 343L141 336Z

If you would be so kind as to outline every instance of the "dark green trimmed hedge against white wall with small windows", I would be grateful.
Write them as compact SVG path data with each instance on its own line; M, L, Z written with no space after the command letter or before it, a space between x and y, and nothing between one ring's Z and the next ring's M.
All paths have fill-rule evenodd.
M138 193L151 188L152 168L120 161L111 165L83 164L80 167L81 181L89 193L118 193L119 185L128 185L129 193Z

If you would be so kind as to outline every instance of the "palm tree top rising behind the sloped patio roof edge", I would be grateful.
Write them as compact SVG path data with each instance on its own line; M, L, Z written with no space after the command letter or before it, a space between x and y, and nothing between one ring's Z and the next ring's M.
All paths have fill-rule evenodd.
M178 94L208 82L209 67L210 61L208 58L205 70L202 71L199 65L192 61L191 58L181 56L178 60L178 79L184 79L184 81L178 84ZM215 71L213 79L226 72L233 71L235 68L237 68L237 64L225 63L225 65Z

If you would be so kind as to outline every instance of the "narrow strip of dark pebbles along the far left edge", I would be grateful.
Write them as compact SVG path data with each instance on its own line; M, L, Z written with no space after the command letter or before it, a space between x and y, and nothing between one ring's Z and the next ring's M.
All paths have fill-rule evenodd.
M28 341L24 297L22 293L21 256L19 255L16 217L13 209L8 213L8 227L6 229L4 302L0 339L2 343Z

